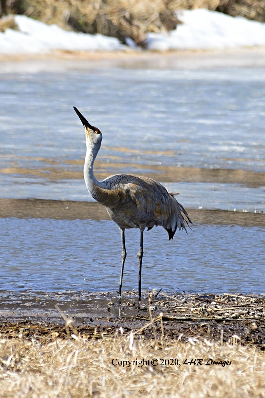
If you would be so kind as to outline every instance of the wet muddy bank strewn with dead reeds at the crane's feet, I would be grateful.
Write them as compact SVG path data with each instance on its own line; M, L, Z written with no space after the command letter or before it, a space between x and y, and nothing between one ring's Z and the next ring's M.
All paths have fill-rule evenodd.
M265 296L134 292L2 292L0 334L25 338L87 338L127 334L146 338L206 338L265 349Z

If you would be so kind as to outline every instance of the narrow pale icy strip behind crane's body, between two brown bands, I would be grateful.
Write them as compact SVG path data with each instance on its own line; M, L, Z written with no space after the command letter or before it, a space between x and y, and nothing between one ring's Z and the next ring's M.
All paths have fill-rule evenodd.
M16 190L8 181L2 182L2 198L14 199L49 199L94 201L86 186L80 180L51 181L43 184L39 179L14 178ZM230 211L265 211L265 188L242 187L239 184L219 183L166 183L160 181L170 192L179 192L177 200L187 208L221 209ZM36 192L29 196L29 191Z

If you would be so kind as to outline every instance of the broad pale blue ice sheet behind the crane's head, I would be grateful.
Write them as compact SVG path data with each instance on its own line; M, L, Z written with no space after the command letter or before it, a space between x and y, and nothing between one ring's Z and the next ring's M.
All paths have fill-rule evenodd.
M82 159L75 105L106 163L265 171L265 68L4 74L0 91L2 167Z

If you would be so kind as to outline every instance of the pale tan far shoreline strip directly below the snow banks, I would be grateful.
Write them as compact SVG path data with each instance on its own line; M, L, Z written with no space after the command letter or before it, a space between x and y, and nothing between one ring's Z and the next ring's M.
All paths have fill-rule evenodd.
M225 50L54 51L49 54L0 54L1 73L91 68L199 69L265 66L264 47Z

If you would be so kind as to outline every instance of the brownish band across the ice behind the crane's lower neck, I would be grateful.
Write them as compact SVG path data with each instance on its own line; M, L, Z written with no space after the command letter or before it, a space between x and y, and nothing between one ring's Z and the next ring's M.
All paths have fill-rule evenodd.
M137 175L144 174L149 178L153 178L164 183L176 182L200 182L200 183L221 183L221 184L244 184L247 187L257 188L265 184L265 172L253 172L250 170L233 170L233 169L207 169L200 167L185 167L185 166L169 166L169 165L142 165L136 163L125 163L123 161L124 153L133 152L135 154L152 154L172 156L174 151L145 151L132 150L127 148L108 148L110 151L120 152L120 156L111 156L111 162L101 157L96 160L96 174L99 179L109 177L110 174L122 173L125 168L135 170ZM13 155L12 155L13 156ZM110 156L108 156L109 158ZM32 160L34 158L31 158ZM56 161L55 159L35 158L38 163L43 162L43 167L38 164L38 168L24 168L17 165L21 161L26 160L22 156L13 156L12 162L6 168L1 168L0 173L4 175L19 175L25 177L45 178L48 181L60 181L80 179L83 180L83 159L68 160L62 165L62 159ZM246 159L247 161L247 159ZM49 165L47 165L49 163ZM78 166L80 170L73 170L70 167ZM139 171L138 171L139 170ZM134 171L134 174L136 174Z

